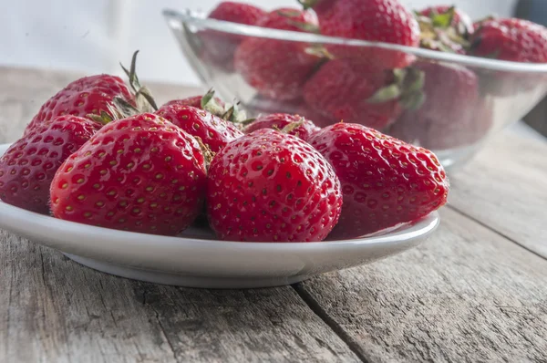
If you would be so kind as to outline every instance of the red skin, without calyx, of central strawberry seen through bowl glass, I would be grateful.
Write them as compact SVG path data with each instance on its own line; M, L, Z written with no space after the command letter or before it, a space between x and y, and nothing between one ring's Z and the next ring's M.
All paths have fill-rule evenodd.
M304 99L309 108L324 114L326 119L383 130L400 115L400 105L397 100L382 103L366 100L391 82L393 76L389 72L347 59L335 59L306 82Z

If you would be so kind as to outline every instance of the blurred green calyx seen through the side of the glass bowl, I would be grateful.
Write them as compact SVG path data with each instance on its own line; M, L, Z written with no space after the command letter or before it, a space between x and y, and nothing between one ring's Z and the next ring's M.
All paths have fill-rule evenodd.
M366 102L378 104L397 100L404 109L416 110L422 107L426 100L423 91L426 74L414 67L393 69L393 83L379 88Z

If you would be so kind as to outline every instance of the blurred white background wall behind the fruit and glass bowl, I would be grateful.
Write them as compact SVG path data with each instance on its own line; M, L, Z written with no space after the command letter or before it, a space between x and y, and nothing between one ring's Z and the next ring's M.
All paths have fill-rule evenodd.
M446 4L402 0L412 8ZM247 0L272 9L296 0ZM216 0L0 0L0 66L49 67L119 73L139 49L139 74L172 83L198 84L170 34L161 9L208 11ZM509 16L516 0L452 0L474 18Z

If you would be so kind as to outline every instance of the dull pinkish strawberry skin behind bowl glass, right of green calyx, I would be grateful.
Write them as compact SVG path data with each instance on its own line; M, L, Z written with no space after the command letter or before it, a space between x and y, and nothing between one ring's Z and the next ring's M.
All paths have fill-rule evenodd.
M476 142L489 129L491 118L479 118L479 78L458 65L418 62L426 74L426 101L406 110L389 134L433 150L458 148Z

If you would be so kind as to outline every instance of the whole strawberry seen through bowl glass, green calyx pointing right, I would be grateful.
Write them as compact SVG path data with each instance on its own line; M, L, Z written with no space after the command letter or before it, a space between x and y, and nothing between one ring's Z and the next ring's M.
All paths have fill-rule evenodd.
M403 107L419 106L420 82L418 73L383 71L350 59L335 59L307 81L304 99L327 119L382 130L397 119Z

